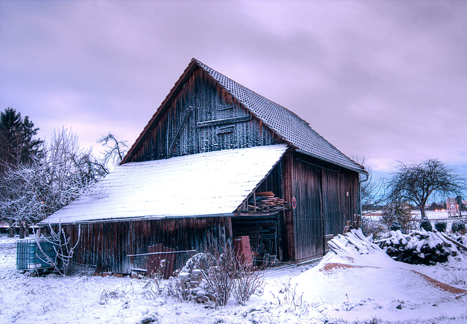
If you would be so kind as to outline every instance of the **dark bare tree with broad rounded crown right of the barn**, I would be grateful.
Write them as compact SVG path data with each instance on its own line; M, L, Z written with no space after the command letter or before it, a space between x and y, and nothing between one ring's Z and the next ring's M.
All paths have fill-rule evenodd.
M426 218L425 206L432 194L446 197L461 194L467 189L467 179L460 176L438 159L427 159L420 164L399 162L399 169L387 182L390 201L412 201Z

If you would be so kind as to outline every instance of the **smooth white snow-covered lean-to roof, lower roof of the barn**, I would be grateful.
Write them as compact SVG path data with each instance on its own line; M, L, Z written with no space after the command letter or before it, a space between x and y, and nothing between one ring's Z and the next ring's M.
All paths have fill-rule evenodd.
M40 223L230 215L287 148L279 144L125 163Z

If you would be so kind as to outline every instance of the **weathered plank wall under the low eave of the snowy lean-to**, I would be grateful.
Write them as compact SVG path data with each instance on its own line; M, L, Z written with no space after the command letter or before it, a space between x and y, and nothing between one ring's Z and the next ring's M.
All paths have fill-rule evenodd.
M225 238L222 217L174 218L140 221L81 224L81 239L74 261L96 265L97 271L129 274L132 268L145 267L147 256L127 257L148 252L158 243L176 251L195 249L203 252L209 240ZM78 225L65 225L73 244L78 237ZM190 256L176 254L175 269Z

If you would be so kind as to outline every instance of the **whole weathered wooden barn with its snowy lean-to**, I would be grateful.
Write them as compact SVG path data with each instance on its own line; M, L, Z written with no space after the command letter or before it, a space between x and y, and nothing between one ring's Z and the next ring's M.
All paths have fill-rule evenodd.
M75 261L102 272L144 268L155 246L179 267L180 251L237 236L255 258L301 262L357 213L360 173L299 116L192 59L121 164L41 223L74 241L80 227Z

